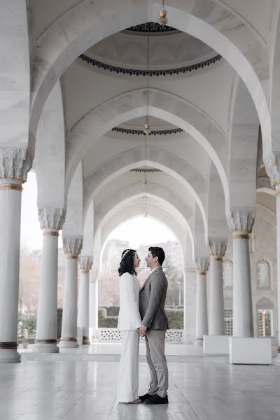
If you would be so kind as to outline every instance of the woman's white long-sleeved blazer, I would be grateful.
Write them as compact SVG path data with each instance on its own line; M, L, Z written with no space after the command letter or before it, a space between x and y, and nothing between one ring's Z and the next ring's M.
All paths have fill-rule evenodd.
M120 276L120 312L118 330L137 330L141 325L139 313L140 283L137 276L124 273Z

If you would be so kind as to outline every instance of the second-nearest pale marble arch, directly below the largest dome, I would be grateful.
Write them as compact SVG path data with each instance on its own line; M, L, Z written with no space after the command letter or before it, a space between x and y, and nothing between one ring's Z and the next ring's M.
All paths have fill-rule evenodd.
M93 109L71 130L66 142L66 185L69 185L73 170L80 159L94 144L92 132L94 132L94 139L99 139L116 125L146 115L146 94L146 89L140 89L113 98ZM191 104L173 94L149 89L149 102L151 116L177 125L188 132L207 151L221 176L225 205L229 206L228 181L224 169L228 165L225 134L205 113L194 109Z

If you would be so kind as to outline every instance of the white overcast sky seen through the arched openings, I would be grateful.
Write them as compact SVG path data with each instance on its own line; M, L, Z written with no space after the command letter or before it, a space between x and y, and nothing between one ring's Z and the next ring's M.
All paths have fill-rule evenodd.
M131 248L139 245L153 245L156 242L176 240L173 233L164 225L149 217L134 218L111 232L108 239L129 241ZM41 249L43 235L38 222L36 175L29 172L27 183L22 192L21 245L30 250ZM62 235L59 235L59 248L62 247Z

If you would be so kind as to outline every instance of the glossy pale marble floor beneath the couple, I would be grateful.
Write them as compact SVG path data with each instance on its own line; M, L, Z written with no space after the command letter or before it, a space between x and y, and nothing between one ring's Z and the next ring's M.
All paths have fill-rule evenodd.
M280 367L169 363L169 405L116 403L118 363L0 364L1 420L280 419ZM140 363L140 393L148 386Z

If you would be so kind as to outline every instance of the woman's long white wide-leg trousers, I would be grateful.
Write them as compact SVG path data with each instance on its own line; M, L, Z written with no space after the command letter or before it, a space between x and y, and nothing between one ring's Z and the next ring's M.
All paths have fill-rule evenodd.
M139 332L123 331L122 356L118 375L118 402L137 400L139 389Z

